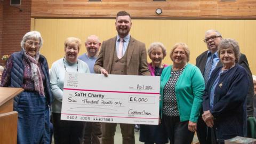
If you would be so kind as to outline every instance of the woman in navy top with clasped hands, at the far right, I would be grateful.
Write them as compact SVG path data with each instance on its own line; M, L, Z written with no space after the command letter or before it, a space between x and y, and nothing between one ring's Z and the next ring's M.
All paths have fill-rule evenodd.
M246 133L246 94L249 77L237 64L239 46L234 39L222 39L218 55L222 66L215 68L203 96L203 120L211 127L207 138L212 143Z

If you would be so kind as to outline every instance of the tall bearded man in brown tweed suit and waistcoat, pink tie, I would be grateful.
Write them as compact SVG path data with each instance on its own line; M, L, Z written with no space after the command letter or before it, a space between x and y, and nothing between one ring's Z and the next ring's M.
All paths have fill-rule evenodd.
M150 75L144 43L130 36L131 15L125 11L117 13L118 35L102 42L101 51L94 65L98 74ZM122 82L120 82L122 83ZM102 144L113 144L116 123L102 123ZM134 125L120 124L123 144L134 144Z

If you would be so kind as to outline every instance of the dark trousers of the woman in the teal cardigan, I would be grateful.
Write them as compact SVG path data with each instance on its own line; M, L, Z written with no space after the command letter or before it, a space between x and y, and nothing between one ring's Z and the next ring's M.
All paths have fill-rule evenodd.
M188 121L180 122L179 116L163 115L163 123L172 144L190 144L195 132L188 130Z

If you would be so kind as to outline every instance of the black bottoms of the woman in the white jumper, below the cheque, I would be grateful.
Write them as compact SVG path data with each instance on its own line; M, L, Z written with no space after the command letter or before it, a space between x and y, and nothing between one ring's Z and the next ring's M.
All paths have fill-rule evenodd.
M53 137L55 144L81 144L84 124L77 121L60 120L60 114L52 113Z

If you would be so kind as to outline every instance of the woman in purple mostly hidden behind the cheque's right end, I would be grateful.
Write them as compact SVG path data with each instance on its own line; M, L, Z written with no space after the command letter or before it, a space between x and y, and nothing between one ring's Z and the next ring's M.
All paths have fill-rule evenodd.
M162 63L166 56L166 49L162 43L152 43L148 49L148 56L151 62L148 63L151 76L161 76L162 71L167 65ZM168 143L164 126L158 125L140 125L140 141L145 144L164 144Z

